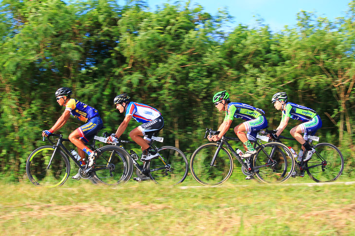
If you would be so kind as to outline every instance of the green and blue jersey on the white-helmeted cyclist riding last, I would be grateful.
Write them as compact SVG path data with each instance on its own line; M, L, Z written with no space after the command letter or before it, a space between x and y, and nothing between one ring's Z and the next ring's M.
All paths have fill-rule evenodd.
M291 119L301 121L310 121L315 116L317 116L317 112L315 112L314 110L292 102L287 102L285 105L285 109L286 110L282 112L281 120L284 120L285 117L289 117Z

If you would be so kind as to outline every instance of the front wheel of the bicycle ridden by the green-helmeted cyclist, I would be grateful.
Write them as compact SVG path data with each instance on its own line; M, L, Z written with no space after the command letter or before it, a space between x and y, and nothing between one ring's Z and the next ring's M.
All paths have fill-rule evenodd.
M191 174L201 185L222 185L231 177L233 158L227 148L222 146L213 166L210 165L218 147L217 143L206 143L191 156Z

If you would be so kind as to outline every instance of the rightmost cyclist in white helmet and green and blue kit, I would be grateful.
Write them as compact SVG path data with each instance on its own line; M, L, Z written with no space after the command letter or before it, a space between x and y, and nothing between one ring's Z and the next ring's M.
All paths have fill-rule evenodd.
M287 126L288 120L290 118L301 120L302 124L293 127L290 131L290 134L300 143L302 144L301 150L299 153L298 160L302 161L302 156L304 149L307 151L307 155L304 158L304 161L308 161L311 159L315 150L307 143L304 139L304 136L314 135L320 127L322 127L322 121L320 116L314 110L301 106L292 102L287 102L287 94L285 92L275 93L272 96L271 102L274 103L274 107L277 110L282 111L282 117L280 125L277 127L277 133L273 136L273 138L277 138L277 136L281 135L284 129ZM304 133L304 136L301 134Z

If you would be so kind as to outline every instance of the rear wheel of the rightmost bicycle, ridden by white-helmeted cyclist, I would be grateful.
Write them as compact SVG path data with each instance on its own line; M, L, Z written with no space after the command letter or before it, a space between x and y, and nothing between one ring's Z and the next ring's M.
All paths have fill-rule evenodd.
M340 150L330 143L319 143L314 149L316 152L306 163L308 176L315 182L336 181L344 169L344 158Z

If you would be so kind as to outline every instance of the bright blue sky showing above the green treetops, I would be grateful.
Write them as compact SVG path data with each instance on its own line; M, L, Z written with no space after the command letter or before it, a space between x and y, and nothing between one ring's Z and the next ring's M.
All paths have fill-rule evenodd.
M146 0L152 11L156 5L163 5L167 0ZM186 0L181 0L186 2ZM228 12L234 17L231 27L238 24L253 26L255 17L263 18L264 24L269 25L274 32L284 29L285 25L293 27L297 23L297 13L301 10L314 12L317 16L327 17L334 21L337 17L345 16L352 0L191 0L192 4L199 3L206 12L216 15L218 8L228 7ZM118 0L120 5L124 0ZM175 2L175 0L170 1Z

